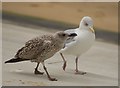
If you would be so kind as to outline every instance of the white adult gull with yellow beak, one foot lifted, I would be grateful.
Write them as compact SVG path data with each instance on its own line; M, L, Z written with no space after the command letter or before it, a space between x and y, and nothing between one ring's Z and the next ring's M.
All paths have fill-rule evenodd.
M76 29L66 30L65 33L76 33L74 38L68 38L65 42L65 47L61 49L60 55L64 61L63 70L66 68L66 60L63 54L74 55L76 69L75 74L84 75L86 72L78 70L78 58L88 51L95 41L95 31L93 29L93 20L89 16L84 16Z

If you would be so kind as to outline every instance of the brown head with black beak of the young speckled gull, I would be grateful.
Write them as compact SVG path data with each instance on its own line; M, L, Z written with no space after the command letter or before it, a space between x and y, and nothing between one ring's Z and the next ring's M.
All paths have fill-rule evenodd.
M56 32L54 36L56 38L59 38L59 39L65 41L69 37L75 37L75 36L77 36L77 34L76 33L68 34L68 33L65 33L64 31L59 31L59 32Z

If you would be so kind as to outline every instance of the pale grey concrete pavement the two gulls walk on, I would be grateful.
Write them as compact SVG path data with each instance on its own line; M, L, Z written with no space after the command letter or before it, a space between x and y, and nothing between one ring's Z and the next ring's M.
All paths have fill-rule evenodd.
M46 67L56 82L49 81L46 74L34 75L36 63L21 62L4 64L12 58L24 43L44 33L56 30L43 28L37 30L29 27L3 22L2 47L2 85L3 86L117 86L118 85L118 46L107 42L96 41L93 47L79 58L79 69L86 71L86 75L75 75L74 56L65 55L66 71L62 70L63 61L57 53L46 60ZM43 68L40 67L42 71Z

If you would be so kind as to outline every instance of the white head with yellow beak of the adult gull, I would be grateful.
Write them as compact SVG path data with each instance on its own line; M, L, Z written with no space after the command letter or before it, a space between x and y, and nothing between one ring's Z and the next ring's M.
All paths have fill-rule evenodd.
M92 33L95 32L94 29L93 29L93 20L89 16L85 16L85 17L82 18L79 28L82 29L82 30L91 31Z

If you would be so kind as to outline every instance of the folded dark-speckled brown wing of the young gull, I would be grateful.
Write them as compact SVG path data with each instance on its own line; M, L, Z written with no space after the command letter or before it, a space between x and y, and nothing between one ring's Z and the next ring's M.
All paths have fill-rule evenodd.
M44 40L37 37L25 43L25 46L18 50L15 57L22 59L35 59L38 53L43 50Z

